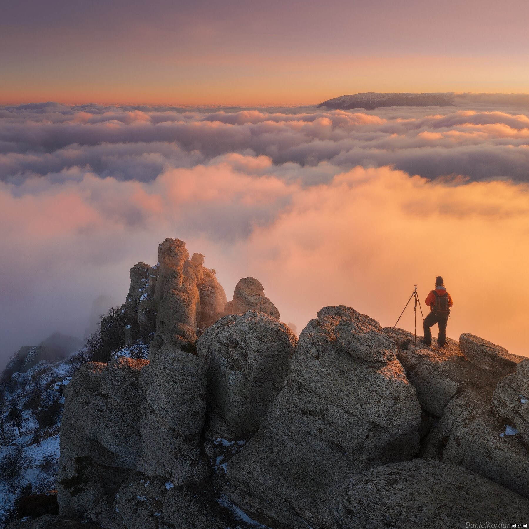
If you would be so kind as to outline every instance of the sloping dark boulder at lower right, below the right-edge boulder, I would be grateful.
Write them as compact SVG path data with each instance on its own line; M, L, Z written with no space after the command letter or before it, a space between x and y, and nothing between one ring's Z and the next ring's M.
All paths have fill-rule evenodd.
M423 441L420 457L459 464L529 497L529 452L490 406L490 393L468 388L446 406Z

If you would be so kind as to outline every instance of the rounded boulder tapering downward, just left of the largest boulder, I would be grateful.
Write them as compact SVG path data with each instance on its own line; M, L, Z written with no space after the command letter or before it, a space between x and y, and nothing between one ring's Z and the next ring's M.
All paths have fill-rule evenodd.
M236 439L258 430L288 375L296 342L287 325L256 311L225 316L200 336L208 437Z

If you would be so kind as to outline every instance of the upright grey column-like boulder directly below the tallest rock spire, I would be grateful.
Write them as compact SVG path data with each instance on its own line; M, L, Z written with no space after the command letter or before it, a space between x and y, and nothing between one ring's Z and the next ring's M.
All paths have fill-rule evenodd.
M163 349L141 372L143 455L138 469L175 485L200 481L200 432L206 413L206 370L193 354ZM156 448L153 448L156 447Z

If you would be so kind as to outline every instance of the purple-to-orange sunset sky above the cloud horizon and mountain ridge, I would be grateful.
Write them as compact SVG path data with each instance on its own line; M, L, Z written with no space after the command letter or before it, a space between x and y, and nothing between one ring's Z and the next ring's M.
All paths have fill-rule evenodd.
M5 2L0 104L527 92L528 17L523 0Z

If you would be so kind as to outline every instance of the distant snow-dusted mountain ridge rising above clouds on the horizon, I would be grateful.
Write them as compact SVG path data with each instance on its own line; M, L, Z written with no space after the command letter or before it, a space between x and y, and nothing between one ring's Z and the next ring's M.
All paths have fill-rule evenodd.
M318 107L333 110L350 110L351 108L365 108L375 110L382 106L455 106L451 103L449 94L380 94L378 92L362 92L361 94L345 95L327 99Z

